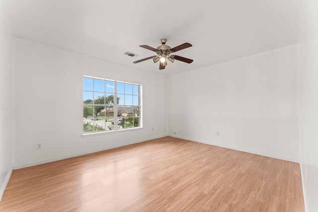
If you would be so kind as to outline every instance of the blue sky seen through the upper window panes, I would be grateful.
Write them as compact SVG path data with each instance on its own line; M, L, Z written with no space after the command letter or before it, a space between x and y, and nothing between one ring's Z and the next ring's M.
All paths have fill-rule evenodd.
M101 79L83 78L83 101L97 96L113 95L115 82ZM93 92L94 91L94 92ZM93 96L94 95L94 96ZM139 85L117 82L117 97L119 105L139 104Z

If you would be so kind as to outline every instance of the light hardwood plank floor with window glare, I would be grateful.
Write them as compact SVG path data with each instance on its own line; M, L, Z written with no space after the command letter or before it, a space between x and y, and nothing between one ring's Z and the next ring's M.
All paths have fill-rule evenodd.
M298 163L166 137L13 170L0 211L305 210Z

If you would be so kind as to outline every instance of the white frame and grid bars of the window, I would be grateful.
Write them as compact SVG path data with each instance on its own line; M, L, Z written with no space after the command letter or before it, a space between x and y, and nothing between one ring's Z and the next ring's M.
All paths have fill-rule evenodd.
M114 129L113 130L106 130L105 131L93 131L93 132L83 132L83 129L82 129L82 135L85 136L85 135L95 135L95 134L103 134L103 133L110 133L110 132L117 132L117 131L126 131L126 130L133 130L133 129L139 129L139 128L143 128L143 119L142 119L142 85L141 84L137 84L137 83L132 83L132 82L124 82L124 81L118 81L118 80L113 80L113 79L106 79L106 78L100 78L100 77L95 77L95 76L87 76L87 75L83 75L83 80L84 78L90 78L90 79L93 79L93 90L84 90L84 87L82 87L82 95L83 95L83 92L85 91L89 91L89 92L95 92L94 91L94 79L99 79L99 80L104 80L104 81L112 81L114 82L114 105L107 105L106 103L104 103L104 106L111 106L111 107L114 107ZM119 105L117 104L117 83L125 83L125 84L131 84L131 85L138 85L139 86L139 105L137 105L137 107L139 107L139 116L138 117L138 121L139 121L139 126L138 127L130 127L130 128L117 128L118 126L118 119L119 118L122 118L120 116L118 116L118 107L119 106L122 106L122 105ZM83 83L82 83L82 86L83 86ZM125 87L125 86L124 86ZM126 94L125 91L124 93L120 93L120 94L123 94L123 95L130 95L130 94ZM133 95L133 94L131 94ZM94 101L94 96L93 96L93 101ZM82 96L82 100L83 100L83 96ZM83 104L83 106L93 106L93 117L95 117L95 114L94 114L94 106L96 104ZM100 105L98 105L100 106ZM126 104L124 103L123 105L124 107L126 107ZM128 105L127 105L128 106ZM129 106L136 106L136 105L129 105ZM82 110L82 113L81 113L81 116L83 116L83 110ZM135 117L132 117L133 119ZM93 120L94 121L94 120ZM106 126L105 126L106 127Z

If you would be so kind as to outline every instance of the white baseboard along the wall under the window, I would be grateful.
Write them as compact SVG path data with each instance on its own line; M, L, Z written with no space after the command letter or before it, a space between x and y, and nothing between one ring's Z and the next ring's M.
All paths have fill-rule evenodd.
M126 145L133 144L133 143L139 143L139 142L143 142L143 141L159 139L159 138L163 138L163 137L167 137L167 136L168 135L162 135L162 136L152 137L152 138L145 139L145 140L140 140L140 141L129 141L129 142L126 142L126 143L120 143L120 144L117 144L117 145L110 145L110 146L106 146L104 148L99 148L99 149L94 149L94 150L89 150L89 151L83 151L83 152L79 152L79 153L75 153L75 154L69 154L69 155L64 155L64 156L60 156L60 157L53 157L53 158L49 158L49 159L45 159L45 160L38 160L38 161L34 161L34 162L29 162L29 163L17 164L17 165L13 165L13 169L20 169L20 168L25 168L25 167L29 167L29 166L35 166L35 165L39 165L39 164L43 164L43 163L54 162L54 161L58 161L58 160L63 160L63 159L71 158L71 157L76 157L76 156L80 156L80 155L84 155L84 154L97 152L97 151L103 151L103 150L112 149L112 148L116 148L116 147L120 147L120 146L126 146Z

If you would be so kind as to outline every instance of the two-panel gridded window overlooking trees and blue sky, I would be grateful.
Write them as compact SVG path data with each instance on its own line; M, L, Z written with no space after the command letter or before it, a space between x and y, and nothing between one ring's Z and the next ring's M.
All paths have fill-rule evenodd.
M83 77L83 133L141 127L141 85Z

